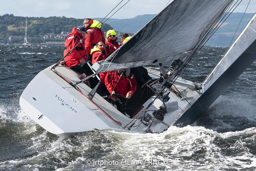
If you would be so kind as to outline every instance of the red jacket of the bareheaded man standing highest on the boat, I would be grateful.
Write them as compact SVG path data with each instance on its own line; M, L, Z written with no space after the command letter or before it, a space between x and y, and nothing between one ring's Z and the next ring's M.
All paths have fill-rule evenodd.
M96 45L96 43L99 41L105 42L105 37L103 31L97 27L88 28L87 33L88 34L85 35L86 39L84 40L84 48L87 53L90 54L91 49Z

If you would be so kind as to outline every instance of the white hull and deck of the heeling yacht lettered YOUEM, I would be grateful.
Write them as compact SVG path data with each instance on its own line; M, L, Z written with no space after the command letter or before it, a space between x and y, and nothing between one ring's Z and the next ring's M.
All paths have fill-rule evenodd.
M134 124L134 126L140 124L139 126L132 127L131 130L127 129L132 124L127 125L132 121L131 118L124 116L97 93L91 101L86 97L91 88L84 83L78 84L84 96L50 68L48 67L38 73L20 97L22 110L45 130L58 136L84 132L93 128L139 133L145 133L147 130L148 126L140 124L140 120ZM57 67L56 69L64 76L68 76L70 81L79 81L78 74L67 67ZM170 94L170 97L171 99L166 105L171 112L166 114L164 118L164 123L168 125L180 117L181 111L178 108L178 103L180 105L186 103L185 100L180 100L177 96L172 97ZM152 98L144 106L151 101ZM163 102L156 100L148 110L157 110L159 106L163 106ZM186 107L183 106L182 108ZM152 112L149 113L152 114ZM150 129L154 132L164 131L169 127L164 123L155 119ZM125 125L127 126L124 129Z

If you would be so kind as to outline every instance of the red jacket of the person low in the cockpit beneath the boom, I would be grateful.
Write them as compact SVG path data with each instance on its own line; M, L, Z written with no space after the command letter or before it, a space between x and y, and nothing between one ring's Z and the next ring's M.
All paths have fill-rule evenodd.
M112 92L119 78L120 76L116 73L116 71L109 71L107 73L105 78L105 85L109 93ZM135 93L136 86L137 86L136 79L134 75L130 73L128 77L122 76L122 78L120 78L114 91L115 93L122 94L124 97L126 97L127 93L130 93L131 95Z

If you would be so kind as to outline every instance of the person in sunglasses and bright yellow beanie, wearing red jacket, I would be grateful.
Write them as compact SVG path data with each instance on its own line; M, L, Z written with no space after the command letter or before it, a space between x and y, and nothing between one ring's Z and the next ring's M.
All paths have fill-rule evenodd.
M117 41L115 30L108 30L108 32L106 34L106 37L107 37L106 49L107 49L107 52L108 52L108 56L110 56L122 44Z

